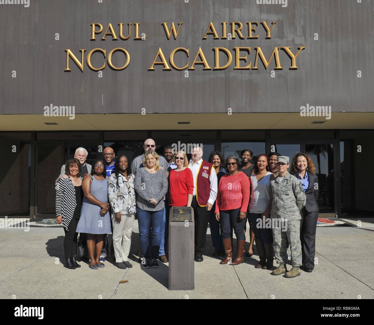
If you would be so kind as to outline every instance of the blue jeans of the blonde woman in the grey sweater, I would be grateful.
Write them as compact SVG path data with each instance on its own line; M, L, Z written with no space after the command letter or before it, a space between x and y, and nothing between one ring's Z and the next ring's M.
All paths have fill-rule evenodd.
M139 242L142 257L157 258L161 243L162 218L165 209L159 211L146 211L137 207L139 224ZM151 228L152 245L149 245L149 229Z

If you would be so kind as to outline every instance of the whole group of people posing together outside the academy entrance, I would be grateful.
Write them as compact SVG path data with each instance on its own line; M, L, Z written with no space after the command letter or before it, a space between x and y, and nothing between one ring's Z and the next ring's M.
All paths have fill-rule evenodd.
M144 154L134 159L131 168L126 156L115 161L110 147L104 149L104 160L96 160L92 166L86 163L84 148L78 148L74 159L62 166L56 180L56 216L65 231L65 267L80 267L75 259L78 233L87 242L89 267L104 267L110 232L116 266L132 267L128 255L137 219L142 267L156 268L158 260L168 262L170 207L190 206L196 262L203 261L209 224L213 255L223 257L220 264L243 263L244 255L252 256L255 242L260 258L255 268L272 269L275 257L279 266L272 275L294 278L300 275L300 267L312 272L318 177L306 154L295 154L290 174L289 158L279 153L253 157L253 152L245 149L240 163L236 156L225 159L213 151L205 161L203 149L194 147L188 162L186 153L173 152L171 146L165 146L163 156L157 154L153 139L145 140L143 148ZM246 252L247 219L250 243Z

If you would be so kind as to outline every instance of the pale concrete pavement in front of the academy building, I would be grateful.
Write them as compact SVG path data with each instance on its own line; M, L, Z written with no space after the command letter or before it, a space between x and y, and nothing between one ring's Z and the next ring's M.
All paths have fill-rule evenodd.
M318 227L318 264L312 273L302 271L294 279L255 269L256 249L239 266L220 265L220 259L211 255L214 249L208 229L204 261L195 262L193 291L168 290L168 263L160 262L158 269L141 269L137 221L130 252L133 267L126 270L117 269L110 258L99 270L89 269L84 262L79 262L80 269L66 269L61 227L30 227L29 232L0 229L0 298L373 299L374 218L361 220L361 227L347 219L351 227ZM248 247L249 232L246 237Z

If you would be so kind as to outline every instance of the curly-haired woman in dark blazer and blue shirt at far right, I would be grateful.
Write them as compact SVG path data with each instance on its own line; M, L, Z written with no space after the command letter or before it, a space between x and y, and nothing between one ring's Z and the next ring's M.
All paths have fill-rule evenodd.
M316 254L316 229L318 219L318 177L316 168L305 153L297 153L292 159L292 175L300 180L306 194L306 204L300 211L300 241L303 254L303 270L312 272Z

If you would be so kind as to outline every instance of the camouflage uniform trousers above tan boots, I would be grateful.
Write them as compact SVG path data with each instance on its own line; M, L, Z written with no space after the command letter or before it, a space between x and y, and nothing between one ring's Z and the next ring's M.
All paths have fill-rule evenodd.
M287 221L287 231L283 231L281 227L272 227L273 231L273 249L274 256L278 263L286 263L288 260L287 256L287 244L286 236L289 242L289 248L291 251L291 263L292 266L301 266L301 242L300 242L300 220Z

